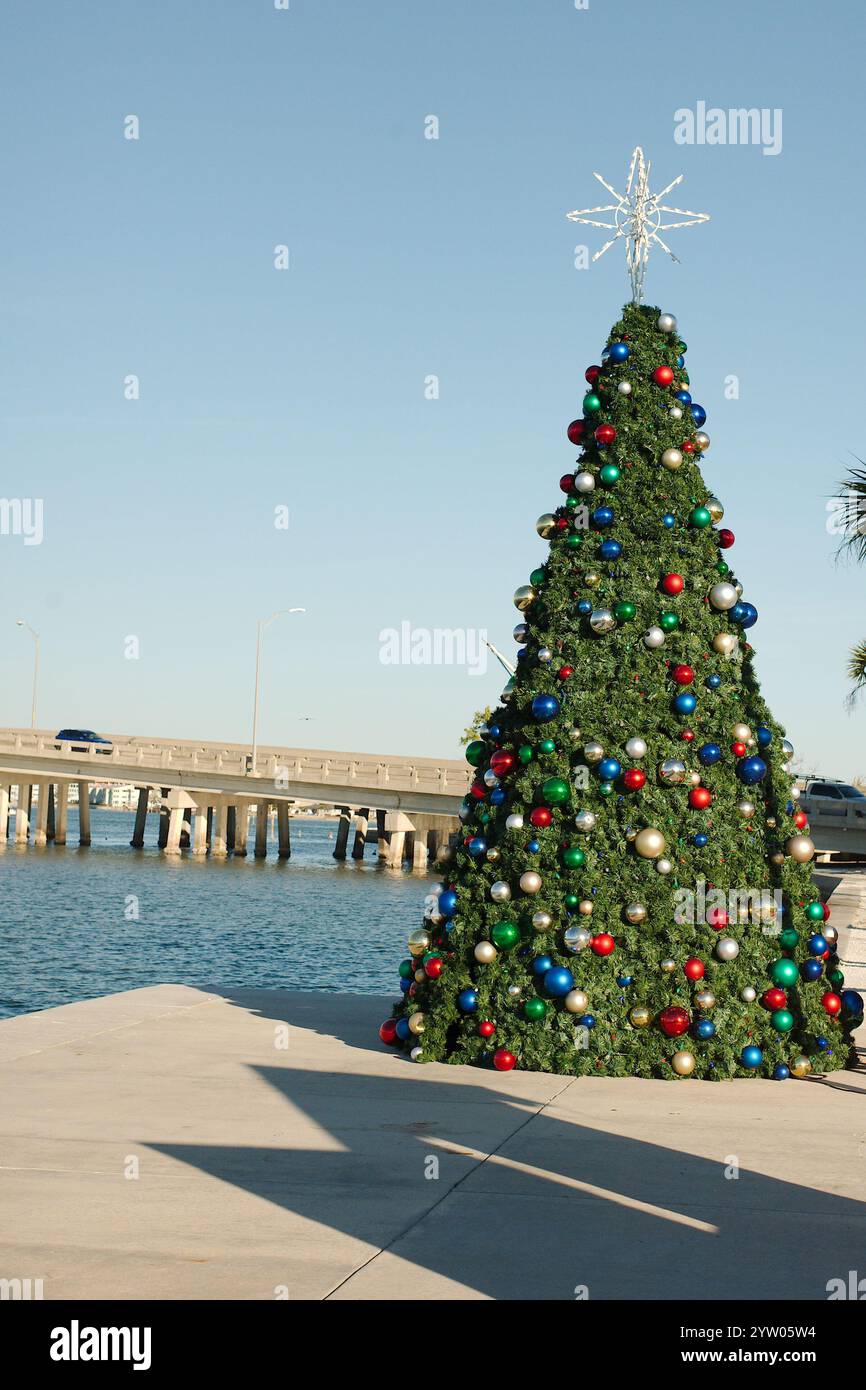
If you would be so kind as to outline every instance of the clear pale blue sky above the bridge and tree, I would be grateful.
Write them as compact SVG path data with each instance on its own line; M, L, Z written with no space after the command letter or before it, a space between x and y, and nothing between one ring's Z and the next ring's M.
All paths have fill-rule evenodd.
M627 297L564 213L641 143L712 214L646 297L689 343L766 695L806 763L865 774L866 573L826 532L866 456L865 28L853 0L7 0L1 491L44 538L0 537L0 723L29 723L24 616L40 726L243 739L256 619L304 605L265 635L261 738L455 756L503 673L382 664L379 632L513 652ZM780 108L781 153L677 145L699 101Z

